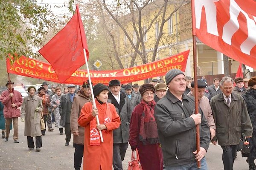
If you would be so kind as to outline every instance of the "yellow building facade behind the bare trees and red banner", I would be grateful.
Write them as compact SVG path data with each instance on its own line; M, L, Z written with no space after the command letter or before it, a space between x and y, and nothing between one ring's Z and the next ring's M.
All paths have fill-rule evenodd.
M159 3L162 0L158 0ZM162 2L163 3L163 2ZM177 4L176 4L177 5ZM160 5L159 5L160 6ZM166 9L166 16L170 14L170 12L174 11L175 4L169 3ZM157 14L159 8L152 5L148 7L148 13L142 16L143 29L146 30L148 28L148 23L150 20L154 18ZM132 40L137 42L136 34L134 32L134 28L131 22L131 18L129 18L129 14L126 17L126 29L128 30L128 34L132 38ZM148 58L148 62L151 61L151 57L153 54L153 49L155 45L156 38L159 34L160 28L160 20L161 15L158 19L152 24L151 28L148 30L147 34L144 36L143 41L145 43L146 48L146 56ZM120 46L120 58L126 63L130 63L131 58L129 55L133 53L132 48L129 46L129 42L127 40L127 36L120 30L119 34L119 46ZM180 7L172 17L164 23L163 26L163 36L161 37L160 43L158 45L157 50L157 59L163 59L164 57L168 57L182 51L186 51L190 49L188 62L186 65L185 74L191 77L194 77L193 73L193 45L192 45L192 14L191 14L191 3L187 3ZM129 54L130 51L130 54ZM198 65L201 68L201 75L212 75L212 74L224 74L224 62L223 62L223 54L212 49L211 47L205 45L200 40L197 39L197 59ZM236 73L239 63L231 60L231 72ZM140 57L136 58L135 65L141 65L142 60ZM127 65L128 67L128 65Z

